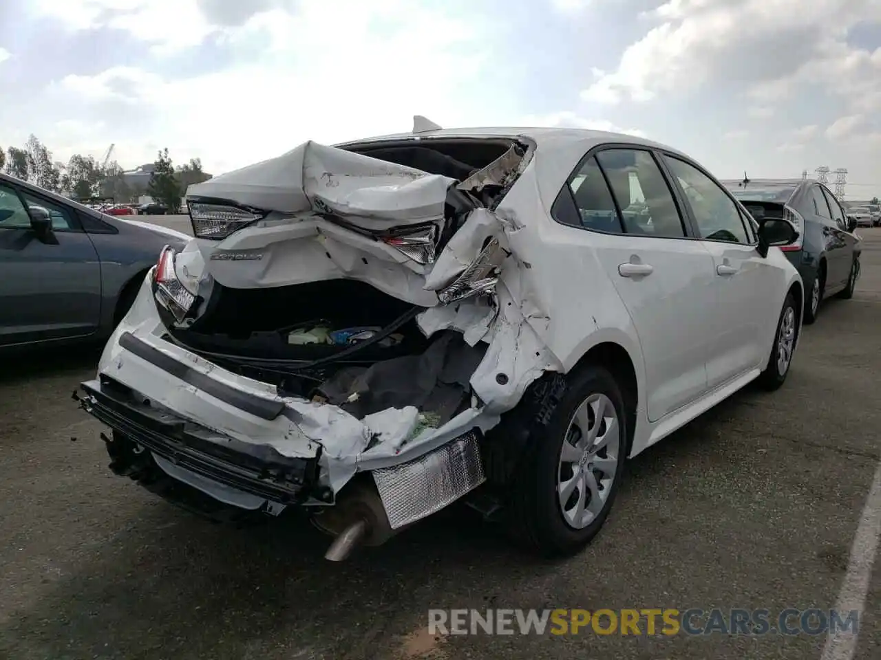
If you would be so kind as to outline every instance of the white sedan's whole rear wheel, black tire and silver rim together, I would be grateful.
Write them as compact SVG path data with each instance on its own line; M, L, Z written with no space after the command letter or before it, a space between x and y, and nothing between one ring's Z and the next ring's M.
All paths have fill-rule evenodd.
M566 380L547 423L529 437L509 510L517 540L546 557L575 554L596 536L628 451L626 405L611 373L588 366Z

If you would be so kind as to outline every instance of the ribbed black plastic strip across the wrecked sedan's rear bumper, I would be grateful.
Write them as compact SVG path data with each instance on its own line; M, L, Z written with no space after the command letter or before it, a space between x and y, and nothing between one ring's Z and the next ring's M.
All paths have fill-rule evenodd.
M221 436L166 410L111 378L80 384L75 394L86 412L156 456L243 492L284 504L302 502L315 487L318 456L292 458L265 444ZM115 444L115 443L114 443ZM109 450L109 447L108 447ZM114 457L128 463L128 456ZM111 467L114 467L113 465ZM129 466L118 466L125 470ZM116 471L116 469L115 469Z

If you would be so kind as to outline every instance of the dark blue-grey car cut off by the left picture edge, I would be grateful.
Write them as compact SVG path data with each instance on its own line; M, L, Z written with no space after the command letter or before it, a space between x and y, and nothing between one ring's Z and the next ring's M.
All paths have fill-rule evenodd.
M188 239L0 174L0 351L106 340L162 248Z

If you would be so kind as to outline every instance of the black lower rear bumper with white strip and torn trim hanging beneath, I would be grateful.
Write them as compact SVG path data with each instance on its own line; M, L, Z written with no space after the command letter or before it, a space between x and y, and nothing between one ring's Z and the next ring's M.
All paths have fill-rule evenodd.
M310 498L332 500L332 493L316 492L320 454L287 457L268 445L222 436L106 376L80 388L82 394L74 394L80 406L119 434L107 439L117 474L149 481L161 470L221 502L273 514Z

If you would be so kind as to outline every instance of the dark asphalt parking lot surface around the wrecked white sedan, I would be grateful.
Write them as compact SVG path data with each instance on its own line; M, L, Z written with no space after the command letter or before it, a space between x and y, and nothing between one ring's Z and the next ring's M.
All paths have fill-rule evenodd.
M633 460L603 532L555 564L458 510L342 564L309 528L203 522L107 470L100 424L70 400L96 351L13 364L0 658L820 658L824 635L433 638L427 611L834 607L881 458L881 230L859 233L857 294L804 329L787 384L740 392ZM879 607L876 567L859 660L881 657Z

